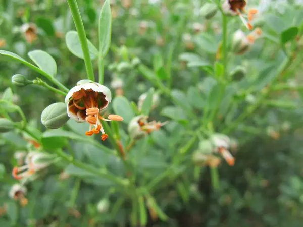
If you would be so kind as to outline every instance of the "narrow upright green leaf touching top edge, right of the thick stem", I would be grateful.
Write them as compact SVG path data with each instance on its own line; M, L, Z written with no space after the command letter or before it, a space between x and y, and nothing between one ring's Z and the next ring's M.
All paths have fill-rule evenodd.
M106 0L100 12L99 18L99 52L104 58L111 45L112 12L110 1Z

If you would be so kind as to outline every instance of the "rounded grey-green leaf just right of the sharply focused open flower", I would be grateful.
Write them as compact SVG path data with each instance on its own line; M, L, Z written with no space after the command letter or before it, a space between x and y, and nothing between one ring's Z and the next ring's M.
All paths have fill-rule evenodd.
M117 96L113 100L113 109L117 115L120 115L125 123L129 123L132 118L135 117L135 113L124 96Z

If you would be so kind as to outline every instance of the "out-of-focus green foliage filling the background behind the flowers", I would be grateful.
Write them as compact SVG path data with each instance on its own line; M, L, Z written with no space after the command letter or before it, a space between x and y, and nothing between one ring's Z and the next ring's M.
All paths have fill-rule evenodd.
M34 49L48 52L58 65L56 78L68 88L86 79L83 60L67 48L65 35L75 27L66 1L0 2L0 40L4 41L1 49L24 59ZM200 14L205 2L111 1L112 44L105 59L104 84L111 87L111 82L121 79L124 96L134 103L154 87L160 93L160 101L150 118L171 120L167 126L138 141L129 153L138 169L138 185L147 184L169 168L177 151L199 127L195 116L204 118L206 108L211 112L216 108L222 23L220 12L209 20ZM97 46L98 15L103 1L78 0L77 3L87 38ZM233 154L235 165L222 162L218 176L208 166L194 166L191 158L198 147L195 141L183 157L184 163L175 166L182 174L167 176L165 182L150 191L168 219L158 219L155 211L149 209L146 226L301 226L302 4L301 1L249 1L249 7L259 10L253 25L262 29L262 36L243 54L232 53L233 33L238 29L249 32L240 20L228 19L229 80L218 111L206 127L238 141ZM37 27L37 37L32 43L22 33L21 26L25 23ZM298 33L287 40L293 27ZM293 59L286 70L276 75L286 54ZM135 57L163 81L169 94L148 80L146 72L133 67L131 61ZM30 126L45 131L40 123L42 110L63 97L37 85L17 88L11 82L14 74L20 73L31 80L40 75L5 56L0 56L0 60L0 91L11 87L13 102L24 111ZM93 66L97 77L96 61ZM239 67L243 70L235 71ZM270 92L266 90L269 85ZM267 96L258 102L262 94ZM248 115L237 122L245 111ZM122 128L121 136L126 140L127 127ZM85 126L70 120L65 129L79 133ZM42 176L27 184L26 206L9 198L8 192L17 182L11 177L12 167L16 165L14 153L30 150L31 146L18 131L0 136L0 226L129 226L132 205L127 197L111 182L65 163L48 167ZM98 168L107 166L117 175L123 172L121 160L100 151L94 144L71 140L67 149L73 150L77 159ZM70 176L64 177L63 173ZM214 179L216 176L218 179ZM102 213L97 209L100 200L109 202L109 208Z

